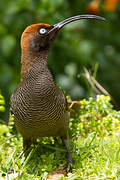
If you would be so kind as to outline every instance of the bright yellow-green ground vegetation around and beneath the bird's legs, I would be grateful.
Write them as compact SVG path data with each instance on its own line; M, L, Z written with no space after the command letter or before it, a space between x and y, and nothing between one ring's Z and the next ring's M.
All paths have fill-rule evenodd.
M120 111L113 109L109 97L71 103L69 143L74 173L61 180L120 178ZM60 138L41 138L18 159L21 149L11 117L8 126L0 124L0 179L47 179L66 164ZM16 173L8 175L12 164Z

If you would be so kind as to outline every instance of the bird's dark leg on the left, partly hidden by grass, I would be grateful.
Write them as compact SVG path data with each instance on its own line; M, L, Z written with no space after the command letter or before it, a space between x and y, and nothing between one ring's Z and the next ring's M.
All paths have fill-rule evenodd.
M22 157L22 155L29 149L31 145L31 140L25 140L23 139L23 150L22 152L19 154L18 158L20 159ZM17 164L17 163L16 163ZM18 164L17 164L18 165ZM10 167L8 174L11 174L14 172L14 168L13 166Z

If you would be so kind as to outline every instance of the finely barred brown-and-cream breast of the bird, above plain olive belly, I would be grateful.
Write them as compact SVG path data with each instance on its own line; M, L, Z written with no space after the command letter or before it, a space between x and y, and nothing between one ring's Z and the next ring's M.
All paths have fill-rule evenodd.
M11 96L11 106L13 112L22 117L25 113L29 115L30 111L34 115L40 112L41 116L46 115L47 111L50 118L50 115L57 117L59 112L64 113L66 101L63 92L55 85L49 69L36 62L22 85Z

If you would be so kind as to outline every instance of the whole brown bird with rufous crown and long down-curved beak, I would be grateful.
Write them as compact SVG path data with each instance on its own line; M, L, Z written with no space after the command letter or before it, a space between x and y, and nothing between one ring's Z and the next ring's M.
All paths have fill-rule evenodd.
M61 29L81 19L105 20L92 14L77 15L54 25L32 24L22 33L21 79L10 98L10 112L23 137L23 151L19 157L29 149L33 139L59 136L66 148L67 167L73 163L67 141L69 107L48 68L48 54Z

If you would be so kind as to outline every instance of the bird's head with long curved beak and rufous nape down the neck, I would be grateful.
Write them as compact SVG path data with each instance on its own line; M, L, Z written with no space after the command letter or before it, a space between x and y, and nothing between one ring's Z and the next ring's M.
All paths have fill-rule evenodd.
M73 16L54 25L49 24L33 24L28 26L21 37L21 82L26 73L30 70L36 59L40 59L42 65L47 63L48 51L56 38L58 32L68 23L80 19L97 19L104 21L105 19L96 15L78 15Z

